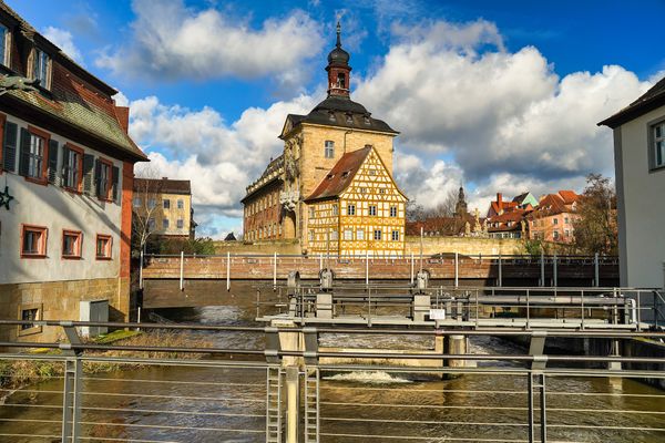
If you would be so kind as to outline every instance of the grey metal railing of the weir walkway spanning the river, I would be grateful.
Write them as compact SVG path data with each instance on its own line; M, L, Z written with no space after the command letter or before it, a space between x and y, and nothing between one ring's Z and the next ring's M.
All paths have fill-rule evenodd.
M307 282L291 289L282 285L256 288L256 318L264 320L287 317L301 323L321 323L336 319L336 322L371 326L380 323L383 317L403 324L523 329L642 330L665 324L665 298L657 289L450 286L418 289L347 282L334 285L329 290ZM321 293L327 297L319 299ZM434 312L443 318L434 319Z

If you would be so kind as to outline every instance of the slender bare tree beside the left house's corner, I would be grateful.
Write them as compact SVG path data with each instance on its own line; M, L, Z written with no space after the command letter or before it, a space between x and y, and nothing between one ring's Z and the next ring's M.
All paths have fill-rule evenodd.
M142 167L134 181L132 202L132 246L134 250L145 250L145 246L154 234L155 215L160 210L162 184L158 171L152 165Z

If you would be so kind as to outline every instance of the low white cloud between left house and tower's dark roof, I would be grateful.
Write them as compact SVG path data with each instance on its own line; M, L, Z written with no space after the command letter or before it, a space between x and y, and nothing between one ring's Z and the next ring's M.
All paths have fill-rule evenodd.
M309 112L314 104L311 96L299 95L268 109L247 109L227 123L211 107L190 110L149 96L130 103L130 135L150 153L150 168L158 176L192 181L203 219L242 217L245 186L280 154L277 136L286 115Z

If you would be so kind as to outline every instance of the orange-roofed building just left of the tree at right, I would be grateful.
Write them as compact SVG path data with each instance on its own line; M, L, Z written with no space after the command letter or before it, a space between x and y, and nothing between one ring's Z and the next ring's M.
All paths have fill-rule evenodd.
M560 190L557 194L543 196L535 209L526 215L530 238L573 243L575 233L573 222L577 218L580 196L574 190Z

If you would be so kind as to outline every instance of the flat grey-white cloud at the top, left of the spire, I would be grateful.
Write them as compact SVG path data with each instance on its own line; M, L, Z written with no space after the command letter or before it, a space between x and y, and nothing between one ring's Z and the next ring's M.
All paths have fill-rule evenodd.
M299 10L252 29L214 8L195 10L182 0L134 0L132 8L136 19L129 43L101 55L99 66L170 80L272 74L296 86L303 63L323 47L318 24Z

